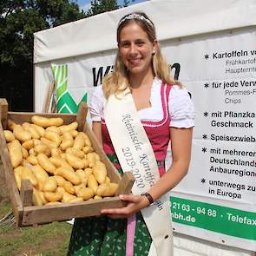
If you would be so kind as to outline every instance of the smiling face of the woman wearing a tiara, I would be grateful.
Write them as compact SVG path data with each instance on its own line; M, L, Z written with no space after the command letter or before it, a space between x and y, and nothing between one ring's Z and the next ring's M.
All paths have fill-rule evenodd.
M121 60L129 70L129 75L145 75L152 72L152 53L156 41L151 43L148 34L135 22L121 29L119 52Z

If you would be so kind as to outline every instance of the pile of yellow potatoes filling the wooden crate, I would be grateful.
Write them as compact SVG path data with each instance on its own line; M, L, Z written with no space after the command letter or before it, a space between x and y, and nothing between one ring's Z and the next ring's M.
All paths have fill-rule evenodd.
M30 180L35 206L101 200L114 196L118 184L92 148L78 123L63 125L62 118L33 115L31 123L8 121L4 136L16 185Z

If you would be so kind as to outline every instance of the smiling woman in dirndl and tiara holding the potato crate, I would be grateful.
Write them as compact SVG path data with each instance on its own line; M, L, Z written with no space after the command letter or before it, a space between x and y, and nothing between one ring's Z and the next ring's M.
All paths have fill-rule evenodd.
M146 194L123 194L127 207L102 210L99 218L75 220L69 255L146 256L152 238L141 211L167 194L187 174L191 154L194 108L186 89L170 76L156 40L154 23L143 13L121 18L117 28L115 71L105 77L91 97L93 131L102 148L121 172L104 121L104 106L111 95L130 90L159 167L160 179ZM106 114L106 113L105 113ZM167 144L171 141L172 165L165 170ZM129 218L135 216L135 232L128 248ZM164 254L163 254L164 255Z

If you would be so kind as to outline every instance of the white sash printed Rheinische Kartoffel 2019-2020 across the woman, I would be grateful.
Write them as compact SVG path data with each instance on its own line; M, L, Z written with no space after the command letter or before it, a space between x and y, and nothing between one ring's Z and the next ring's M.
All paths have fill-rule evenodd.
M135 176L133 194L141 194L159 180L159 170L153 148L141 124L129 89L110 95L104 108L108 133L122 170ZM153 243L150 256L173 256L173 233L167 195L141 210Z

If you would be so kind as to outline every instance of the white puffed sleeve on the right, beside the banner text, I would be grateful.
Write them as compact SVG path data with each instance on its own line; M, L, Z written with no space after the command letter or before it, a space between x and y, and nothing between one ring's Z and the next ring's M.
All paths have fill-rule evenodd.
M194 104L187 89L173 86L169 95L168 109L171 117L170 127L194 127Z

